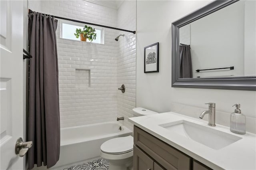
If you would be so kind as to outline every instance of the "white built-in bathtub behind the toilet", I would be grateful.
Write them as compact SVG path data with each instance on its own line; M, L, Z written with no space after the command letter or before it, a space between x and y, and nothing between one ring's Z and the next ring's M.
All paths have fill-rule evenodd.
M119 127L122 130L119 130ZM117 121L60 129L60 160L50 169L60 170L92 158L100 157L105 141L132 135L132 131ZM43 170L45 167L33 168Z

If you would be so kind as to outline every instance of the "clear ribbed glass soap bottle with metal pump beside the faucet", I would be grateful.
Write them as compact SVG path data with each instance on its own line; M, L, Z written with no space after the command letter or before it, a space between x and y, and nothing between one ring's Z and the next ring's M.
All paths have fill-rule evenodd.
M240 104L235 104L236 109L230 115L230 131L238 134L246 133L246 117L241 113Z

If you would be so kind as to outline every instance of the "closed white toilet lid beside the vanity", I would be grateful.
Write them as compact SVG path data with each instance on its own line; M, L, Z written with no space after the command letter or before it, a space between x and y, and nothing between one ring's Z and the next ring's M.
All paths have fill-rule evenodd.
M113 138L104 142L100 146L100 150L107 154L123 154L133 150L133 137Z

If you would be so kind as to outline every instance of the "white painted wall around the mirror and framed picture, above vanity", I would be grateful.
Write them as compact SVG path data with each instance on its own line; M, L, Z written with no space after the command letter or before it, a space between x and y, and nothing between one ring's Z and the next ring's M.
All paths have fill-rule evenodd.
M136 107L198 118L216 103L216 123L229 126L232 105L241 104L247 130L256 132L256 92L171 87L171 23L209 1L137 1ZM144 47L159 42L159 73L144 73ZM208 117L206 116L207 120Z

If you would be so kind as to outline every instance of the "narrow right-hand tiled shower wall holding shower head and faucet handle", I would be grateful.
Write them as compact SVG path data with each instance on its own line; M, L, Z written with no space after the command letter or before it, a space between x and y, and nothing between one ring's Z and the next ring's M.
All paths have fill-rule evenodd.
M126 30L136 30L136 1L124 1L117 11L117 26ZM124 117L124 125L130 130L133 125L128 122L134 117L132 109L136 106L136 34L118 32L117 86L125 85L125 93L117 92L117 114Z

